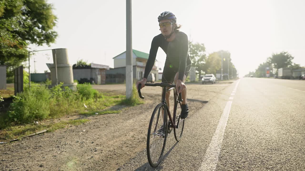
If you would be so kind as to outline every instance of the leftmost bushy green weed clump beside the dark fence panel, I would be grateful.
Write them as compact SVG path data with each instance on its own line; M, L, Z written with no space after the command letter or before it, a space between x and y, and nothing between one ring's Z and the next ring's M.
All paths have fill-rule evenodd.
M44 86L32 88L31 91L26 88L14 96L8 111L9 120L30 123L47 118L50 113L50 97L50 91Z

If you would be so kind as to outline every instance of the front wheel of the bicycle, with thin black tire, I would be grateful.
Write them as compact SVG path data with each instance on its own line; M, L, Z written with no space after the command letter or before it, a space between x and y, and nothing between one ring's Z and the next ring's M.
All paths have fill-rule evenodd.
M160 164L167 138L167 115L162 110L164 105L160 103L152 112L147 132L147 159L152 167Z

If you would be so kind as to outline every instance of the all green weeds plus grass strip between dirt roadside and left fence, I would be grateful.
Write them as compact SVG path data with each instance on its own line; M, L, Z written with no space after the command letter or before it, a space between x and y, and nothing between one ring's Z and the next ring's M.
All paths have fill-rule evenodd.
M120 113L120 110L105 109L115 105L135 106L143 103L138 97L135 85L132 97L129 99L124 95L98 92L88 84L78 86L79 91L72 91L68 87L63 89L61 85L51 89L45 86L31 87L31 89L27 87L24 92L14 96L6 116L0 116L0 139L3 139L1 138L3 136L5 139L20 138L43 129L54 131L69 124L81 124L78 122L82 120L62 121L50 125L31 124L33 121L43 122L45 119L64 115Z

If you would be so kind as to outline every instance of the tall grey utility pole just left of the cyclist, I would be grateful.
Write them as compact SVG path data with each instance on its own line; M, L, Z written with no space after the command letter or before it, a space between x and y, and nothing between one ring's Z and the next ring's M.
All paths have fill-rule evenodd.
M132 28L131 28L131 0L126 0L126 98L132 95Z

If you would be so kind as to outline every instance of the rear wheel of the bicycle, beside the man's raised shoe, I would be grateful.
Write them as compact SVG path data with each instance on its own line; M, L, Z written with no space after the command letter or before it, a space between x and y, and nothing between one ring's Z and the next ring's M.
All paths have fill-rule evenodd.
M179 102L179 100L176 100L176 106L177 106L176 107L176 118L174 118L174 119L175 119L175 125L178 124L178 128L174 128L174 135L175 135L176 141L180 141L180 139L182 138L182 134L183 134L185 119L180 118L181 103Z

